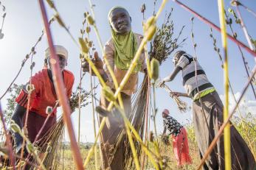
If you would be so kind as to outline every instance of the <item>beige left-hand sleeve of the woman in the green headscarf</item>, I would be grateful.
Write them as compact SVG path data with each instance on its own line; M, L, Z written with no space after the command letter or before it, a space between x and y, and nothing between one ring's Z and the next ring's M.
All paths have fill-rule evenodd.
M105 52L105 60L108 60L109 65L111 66L112 70L114 71L114 48L111 46L111 40L108 40L107 43L105 43L104 46L104 52ZM105 63L105 60L103 60L103 68L105 71L105 74L108 76L108 81L105 82L110 88L114 88L114 82L111 78L111 74L108 71L107 65Z

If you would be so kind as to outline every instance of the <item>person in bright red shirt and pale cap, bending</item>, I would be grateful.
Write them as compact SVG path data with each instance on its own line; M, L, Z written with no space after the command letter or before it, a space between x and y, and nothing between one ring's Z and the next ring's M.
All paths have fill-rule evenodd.
M67 71L65 66L67 65L68 52L63 46L55 45L55 52L58 55L60 71L63 75L63 82L66 87L67 96L71 96L72 86L74 84L74 75L72 72ZM27 132L28 138L33 143L35 141L36 135L38 135L39 130L44 124L48 114L46 113L47 107L55 108L52 110L48 121L46 121L45 127L39 135L38 141L46 134L46 132L56 124L56 107L58 102L57 94L55 92L55 87L52 80L52 71L49 64L50 52L49 48L45 51L46 54L46 68L38 71L34 76L31 77L31 84L34 86L34 90L30 94L30 104L29 104L29 114L27 118ZM49 67L47 66L49 64ZM24 127L24 121L26 117L26 111L28 106L28 90L27 85L19 93L18 97L15 99L17 106L15 112L13 113L12 120L19 127ZM57 104L58 105L58 104ZM19 152L22 146L23 138L18 133L14 133L14 141L16 146L16 152Z

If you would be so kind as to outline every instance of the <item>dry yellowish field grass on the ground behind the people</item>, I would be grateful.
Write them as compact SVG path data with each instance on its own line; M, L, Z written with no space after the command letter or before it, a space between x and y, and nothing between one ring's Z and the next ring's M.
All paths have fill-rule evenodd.
M249 113L246 117L243 118L243 121L246 123L247 132L249 133L249 136L251 137L251 140L246 140L246 136L243 130L243 127L241 127L241 119L238 117L235 117L232 119L233 124L238 129L238 131L243 136L243 139L246 141L247 144L251 143L251 146L254 146L252 148L252 152L255 155L256 149L256 116L252 115L252 113ZM180 169L196 169L200 163L200 157L198 152L198 146L196 144L196 138L195 138L195 132L193 129L193 124L186 124L185 128L187 130L187 138L189 141L189 147L190 147L190 157L192 158L192 164L184 166ZM176 166L176 158L173 153L173 146L172 144L166 145L162 142L162 140L159 140L159 148L160 148L160 154L162 157L167 161L167 168L166 169L179 169L178 166ZM80 144L80 152L83 156L83 160L87 157L89 149L91 148L90 143L86 144ZM149 148L153 150L153 143L149 144ZM97 148L98 154L99 149ZM65 147L63 149L63 154L60 155L60 166L58 169L75 169L74 160L72 158L72 152L70 150L69 143L65 144ZM142 158L142 157L141 157ZM88 166L86 166L86 169L95 169L94 166L94 157L90 158ZM100 157L99 157L99 163L100 163ZM148 161L147 165L144 166L146 170L153 170L153 165ZM131 167L131 169L135 169L135 167Z

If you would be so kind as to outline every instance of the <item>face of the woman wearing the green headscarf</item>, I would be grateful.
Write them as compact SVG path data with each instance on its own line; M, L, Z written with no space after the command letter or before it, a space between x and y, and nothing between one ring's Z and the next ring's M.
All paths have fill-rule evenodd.
M131 17L125 9L113 10L109 15L109 21L114 32L125 34L131 30Z

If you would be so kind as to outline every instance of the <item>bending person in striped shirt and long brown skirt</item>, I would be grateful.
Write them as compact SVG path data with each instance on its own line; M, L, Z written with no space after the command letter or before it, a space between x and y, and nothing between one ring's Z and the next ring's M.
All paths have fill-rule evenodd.
M223 124L224 106L195 58L184 51L178 51L173 56L173 63L175 65L173 73L163 79L162 85L172 81L179 71L182 72L183 85L187 93L174 92L174 94L193 99L193 123L200 155L203 156ZM234 126L230 127L230 135L232 169L254 169L255 158ZM223 137L207 158L204 169L224 169Z

